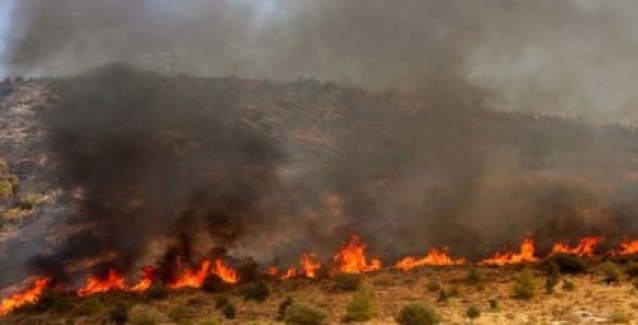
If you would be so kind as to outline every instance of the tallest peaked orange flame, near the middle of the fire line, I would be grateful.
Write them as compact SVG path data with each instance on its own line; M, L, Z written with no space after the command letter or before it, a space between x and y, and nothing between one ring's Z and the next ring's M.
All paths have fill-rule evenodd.
M333 273L363 273L381 269L381 261L378 259L367 260L365 255L366 245L361 238L353 235L337 254L332 258L335 269Z

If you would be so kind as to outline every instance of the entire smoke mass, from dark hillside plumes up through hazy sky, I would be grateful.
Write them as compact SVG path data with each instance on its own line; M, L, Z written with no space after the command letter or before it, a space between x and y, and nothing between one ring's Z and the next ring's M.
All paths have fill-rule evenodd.
M47 127L60 179L80 197L76 232L30 265L64 280L129 271L157 246L287 262L326 257L351 232L389 259L432 245L478 256L531 233L629 234L633 130L490 108L629 122L637 10L22 0L5 62L72 76ZM111 62L126 65L96 69Z

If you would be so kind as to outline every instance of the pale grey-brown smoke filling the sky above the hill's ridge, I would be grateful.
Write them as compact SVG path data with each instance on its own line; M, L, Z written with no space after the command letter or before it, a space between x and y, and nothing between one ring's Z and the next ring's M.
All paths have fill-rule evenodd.
M315 77L600 122L636 116L631 0L24 0L5 63Z

